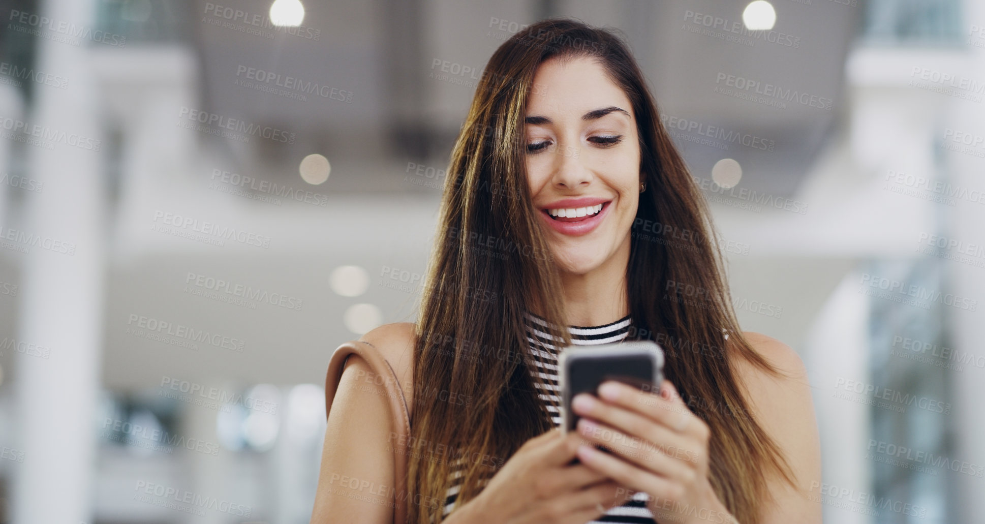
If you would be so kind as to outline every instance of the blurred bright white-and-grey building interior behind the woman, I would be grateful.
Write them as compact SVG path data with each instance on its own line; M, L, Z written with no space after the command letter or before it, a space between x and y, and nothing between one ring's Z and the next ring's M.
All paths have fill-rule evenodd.
M0 2L0 522L307 522L329 356L415 318L482 70L556 16L630 43L807 364L824 521L985 522L985 4L770 2Z

